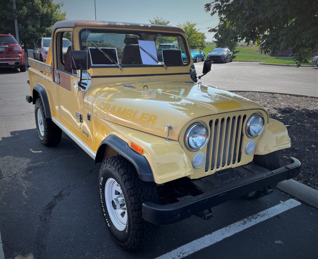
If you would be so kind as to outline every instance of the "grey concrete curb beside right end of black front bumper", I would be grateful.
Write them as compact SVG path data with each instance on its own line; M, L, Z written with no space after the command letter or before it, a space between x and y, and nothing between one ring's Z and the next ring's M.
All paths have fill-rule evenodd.
M305 203L318 208L318 190L293 179L279 182L277 189L290 194Z

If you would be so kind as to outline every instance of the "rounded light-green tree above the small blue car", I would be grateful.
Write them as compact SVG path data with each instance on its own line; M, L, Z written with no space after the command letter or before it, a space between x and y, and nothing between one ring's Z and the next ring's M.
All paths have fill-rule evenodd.
M205 33L199 31L196 28L196 23L185 22L183 24L177 25L181 28L188 38L190 49L204 49L205 48Z

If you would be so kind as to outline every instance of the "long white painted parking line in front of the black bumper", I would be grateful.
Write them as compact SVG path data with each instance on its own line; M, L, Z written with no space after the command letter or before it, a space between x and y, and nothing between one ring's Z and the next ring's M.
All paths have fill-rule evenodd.
M164 254L162 256L157 257L156 259L168 259L168 258L183 258L185 256L191 255L201 249L204 249L210 245L213 245L226 237L239 233L246 228L252 227L260 222L265 221L266 219L272 218L288 209L294 208L298 205L301 205L299 201L295 201L294 199L290 199L285 202L281 202L280 204L263 210L257 214L254 214L250 217L247 217L243 220L235 222L225 228L221 228L211 234L205 235L197 240L194 240L190 243L187 243L171 252Z

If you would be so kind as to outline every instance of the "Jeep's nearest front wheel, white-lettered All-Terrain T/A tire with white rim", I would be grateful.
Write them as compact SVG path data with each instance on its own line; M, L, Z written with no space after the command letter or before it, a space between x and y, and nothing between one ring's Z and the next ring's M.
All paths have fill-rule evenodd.
M142 203L157 201L154 182L141 181L135 167L118 155L102 162L98 192L106 225L122 248L133 251L153 240L158 226L142 218Z

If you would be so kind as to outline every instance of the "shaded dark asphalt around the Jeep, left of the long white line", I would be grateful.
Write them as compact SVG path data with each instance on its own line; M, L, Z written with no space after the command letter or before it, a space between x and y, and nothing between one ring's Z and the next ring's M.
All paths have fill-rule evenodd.
M0 233L6 258L156 258L283 199L229 201L213 209L211 221L192 216L162 226L149 247L129 253L114 242L100 212L100 164L64 133L56 147L43 146L36 129L10 134L0 140Z

